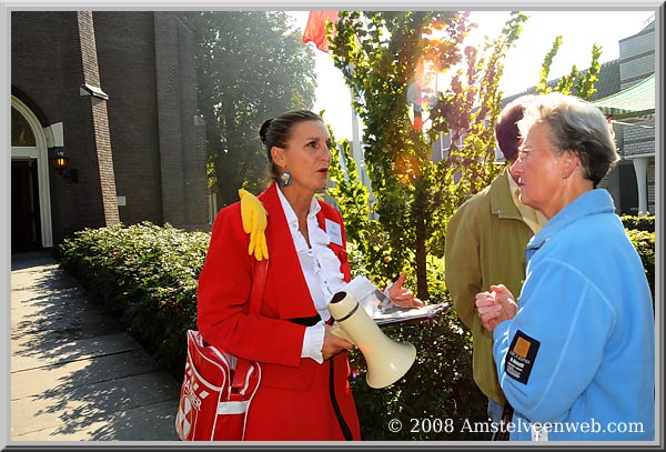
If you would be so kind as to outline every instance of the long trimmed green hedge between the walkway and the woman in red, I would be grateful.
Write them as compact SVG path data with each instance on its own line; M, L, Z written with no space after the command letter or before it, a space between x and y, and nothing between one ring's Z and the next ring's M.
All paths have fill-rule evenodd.
M59 252L61 267L180 379L209 242L205 232L142 222L75 232Z

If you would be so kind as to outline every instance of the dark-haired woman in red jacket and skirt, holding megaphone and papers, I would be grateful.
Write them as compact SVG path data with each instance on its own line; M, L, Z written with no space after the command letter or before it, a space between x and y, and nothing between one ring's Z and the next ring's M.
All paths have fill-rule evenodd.
M347 350L331 332L327 303L351 279L341 214L314 198L326 187L331 138L321 117L290 111L264 122L274 179L259 195L266 212L270 265L259 315L249 314L255 258L240 203L222 209L199 278L198 327L206 342L261 363L246 441L360 440ZM398 305L423 303L390 287Z

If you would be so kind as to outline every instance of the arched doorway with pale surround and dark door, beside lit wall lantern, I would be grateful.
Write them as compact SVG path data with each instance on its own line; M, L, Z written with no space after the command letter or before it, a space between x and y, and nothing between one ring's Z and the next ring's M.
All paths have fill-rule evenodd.
M11 97L11 252L53 247L47 135Z

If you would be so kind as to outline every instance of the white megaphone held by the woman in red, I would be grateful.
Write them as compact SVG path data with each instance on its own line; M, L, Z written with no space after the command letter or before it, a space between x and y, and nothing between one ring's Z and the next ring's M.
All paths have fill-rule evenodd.
M347 292L337 292L329 303L337 325L333 332L356 344L367 364L367 385L385 388L400 380L416 359L416 349L408 342L387 338L359 302ZM342 330L342 331L341 331Z

